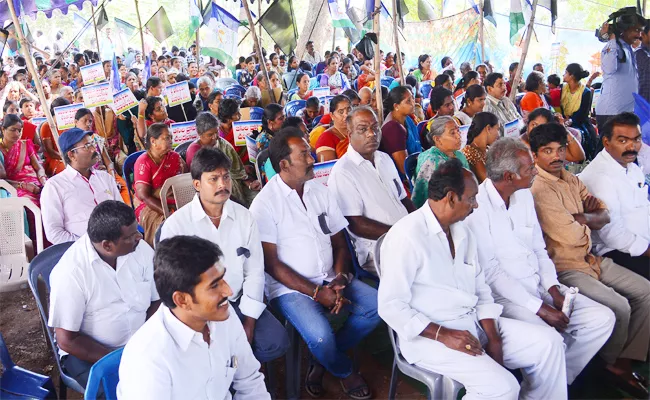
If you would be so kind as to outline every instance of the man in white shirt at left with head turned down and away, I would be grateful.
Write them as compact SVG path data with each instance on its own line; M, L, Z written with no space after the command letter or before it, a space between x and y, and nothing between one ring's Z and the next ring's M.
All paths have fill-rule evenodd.
M83 387L90 367L124 346L160 304L153 250L141 240L133 209L105 201L88 222L88 233L52 270L48 321L63 368Z

